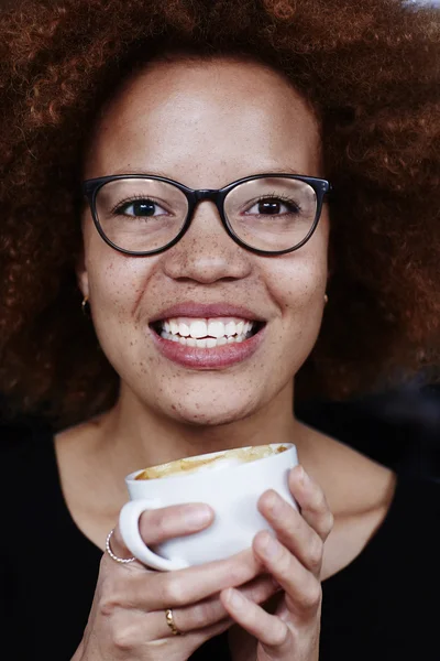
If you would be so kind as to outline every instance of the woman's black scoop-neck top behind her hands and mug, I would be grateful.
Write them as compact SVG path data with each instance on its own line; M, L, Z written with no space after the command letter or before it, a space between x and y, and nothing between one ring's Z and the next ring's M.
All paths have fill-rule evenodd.
M52 434L2 436L0 657L10 649L4 659L69 661L102 552L67 510ZM398 476L380 530L322 583L320 661L440 659L439 520L440 484ZM191 659L212 657L230 659L227 635Z

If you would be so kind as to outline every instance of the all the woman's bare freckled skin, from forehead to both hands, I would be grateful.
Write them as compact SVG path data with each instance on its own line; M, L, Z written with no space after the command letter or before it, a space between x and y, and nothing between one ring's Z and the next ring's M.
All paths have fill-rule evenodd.
M103 109L85 163L85 178L148 172L194 188L274 171L322 176L319 126L278 73L231 59L154 63L128 80ZM176 246L148 258L108 247L87 209L82 227L79 286L89 296L102 350L121 377L121 393L113 410L56 438L63 490L80 530L105 548L127 499L123 477L143 466L270 437L295 442L307 473L298 467L289 477L301 516L265 492L258 507L277 540L261 532L238 556L166 574L138 562L119 565L106 554L75 660L187 659L234 624L230 644L240 661L315 661L320 581L367 543L386 514L395 479L292 413L294 377L323 314L327 206L312 238L276 258L235 245L209 202L198 206ZM233 367L179 367L157 353L147 327L180 301L252 305L266 319L262 345ZM196 522L202 510L146 512L141 533L155 544L200 530L213 516L208 510L208 520ZM112 548L130 555L118 527ZM258 606L275 593L271 608ZM172 636L168 607L185 637Z

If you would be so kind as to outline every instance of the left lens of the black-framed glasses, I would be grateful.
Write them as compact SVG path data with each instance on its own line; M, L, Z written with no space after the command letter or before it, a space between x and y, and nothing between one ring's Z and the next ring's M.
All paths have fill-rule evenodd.
M103 234L118 248L147 252L176 238L185 224L188 202L173 184L127 177L99 188L96 213Z

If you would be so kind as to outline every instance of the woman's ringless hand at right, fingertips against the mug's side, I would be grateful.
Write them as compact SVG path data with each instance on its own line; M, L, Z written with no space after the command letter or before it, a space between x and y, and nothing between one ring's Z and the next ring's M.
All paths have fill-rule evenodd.
M220 593L224 608L244 629L234 641L242 650L237 649L237 658L243 661L317 661L319 657L320 574L323 543L333 527L333 516L322 489L301 466L290 470L289 488L301 513L275 491L265 491L258 509L277 538L261 531L253 541L255 556L284 592L275 614L234 588ZM246 632L256 639L252 652L248 651Z

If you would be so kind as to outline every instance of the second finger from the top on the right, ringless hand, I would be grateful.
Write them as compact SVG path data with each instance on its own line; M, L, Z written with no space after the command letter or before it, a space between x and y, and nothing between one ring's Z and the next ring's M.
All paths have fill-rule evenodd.
M323 542L301 514L276 491L265 491L258 510L271 523L278 540L316 575L322 564Z

